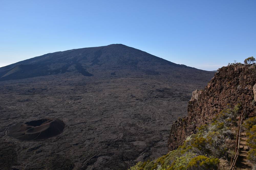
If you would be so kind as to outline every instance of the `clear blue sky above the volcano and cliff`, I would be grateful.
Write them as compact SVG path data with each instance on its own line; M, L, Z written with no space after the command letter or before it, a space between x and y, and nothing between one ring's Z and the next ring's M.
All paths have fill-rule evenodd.
M256 57L255 0L0 0L0 67L124 44L203 70Z

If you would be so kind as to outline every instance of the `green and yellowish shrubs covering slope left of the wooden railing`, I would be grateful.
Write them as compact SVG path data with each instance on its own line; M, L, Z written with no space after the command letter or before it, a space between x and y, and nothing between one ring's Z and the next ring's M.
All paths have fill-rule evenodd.
M130 170L228 169L234 156L237 116L240 104L230 105L190 135L182 146L147 162L138 162Z

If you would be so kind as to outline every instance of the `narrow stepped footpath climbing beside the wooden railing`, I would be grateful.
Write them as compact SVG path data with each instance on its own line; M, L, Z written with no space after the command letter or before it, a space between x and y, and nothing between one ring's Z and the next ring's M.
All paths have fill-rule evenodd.
M242 121L244 123L244 121ZM239 145L239 159L237 161L237 165L235 169L237 170L249 170L252 169L252 163L247 159L247 153L249 151L249 147L247 146L246 140L248 137L246 136L246 132L244 128L241 128L240 133L240 145Z

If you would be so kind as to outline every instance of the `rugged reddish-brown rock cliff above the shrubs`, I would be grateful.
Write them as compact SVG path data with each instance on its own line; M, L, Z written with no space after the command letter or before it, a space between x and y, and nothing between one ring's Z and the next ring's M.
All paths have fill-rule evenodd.
M247 116L256 115L256 67L233 64L219 69L204 90L196 90L188 103L188 115L175 121L170 130L168 151L182 145L196 127L211 121L228 104L241 103Z

